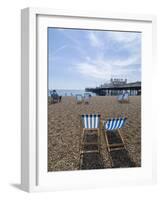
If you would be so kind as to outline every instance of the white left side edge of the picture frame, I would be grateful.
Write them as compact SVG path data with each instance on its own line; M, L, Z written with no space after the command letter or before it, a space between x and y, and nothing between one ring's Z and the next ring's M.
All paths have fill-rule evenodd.
M21 189L36 187L36 13L21 10Z

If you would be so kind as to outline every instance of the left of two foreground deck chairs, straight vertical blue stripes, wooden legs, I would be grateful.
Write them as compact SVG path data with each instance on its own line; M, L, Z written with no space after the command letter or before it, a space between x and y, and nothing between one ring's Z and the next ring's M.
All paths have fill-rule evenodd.
M83 153L100 152L100 114L81 115L81 151Z

